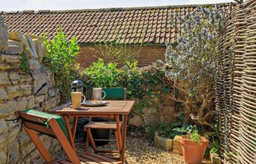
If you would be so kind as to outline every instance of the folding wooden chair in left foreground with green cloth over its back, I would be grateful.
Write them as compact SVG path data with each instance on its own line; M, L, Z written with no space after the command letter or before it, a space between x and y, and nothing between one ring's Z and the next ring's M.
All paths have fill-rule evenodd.
M85 154L76 155L74 149L72 149L67 139L67 129L64 125L62 117L56 114L48 114L45 112L39 112L33 109L27 109L23 112L16 111L15 116L18 118L22 125L22 128L26 130L31 140L45 159L46 163L63 164L63 163L83 163L83 164L117 164L121 161L113 160L109 157L97 155L92 152L86 152ZM58 139L59 143L63 147L67 154L67 159L57 160L53 162L50 153L39 140L37 132L43 133L48 136L52 136Z

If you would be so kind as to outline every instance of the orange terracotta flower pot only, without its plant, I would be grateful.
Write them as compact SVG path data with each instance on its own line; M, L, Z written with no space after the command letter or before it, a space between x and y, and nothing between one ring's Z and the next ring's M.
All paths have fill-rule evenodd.
M187 138L187 135L181 136L181 146L185 163L201 163L206 152L206 147L208 146L208 140L204 137L200 137L202 144L199 145Z

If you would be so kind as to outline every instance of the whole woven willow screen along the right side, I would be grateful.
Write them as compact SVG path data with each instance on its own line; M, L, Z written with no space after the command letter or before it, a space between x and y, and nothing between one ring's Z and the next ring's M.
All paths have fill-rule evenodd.
M230 12L219 47L220 155L225 163L256 163L256 0Z

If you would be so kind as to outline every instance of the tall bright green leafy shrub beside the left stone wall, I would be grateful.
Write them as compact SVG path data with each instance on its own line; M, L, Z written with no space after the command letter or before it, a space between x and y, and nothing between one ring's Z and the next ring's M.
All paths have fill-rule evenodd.
M46 34L43 34L44 43L47 47L45 64L55 74L56 84L61 91L61 98L69 98L70 83L75 74L75 57L80 52L76 38L67 39L67 35L61 27L56 31L55 36L49 41Z

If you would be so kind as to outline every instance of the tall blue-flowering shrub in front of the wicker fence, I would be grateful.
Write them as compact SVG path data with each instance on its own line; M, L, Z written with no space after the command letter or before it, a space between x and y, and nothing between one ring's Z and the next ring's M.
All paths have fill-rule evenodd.
M181 35L167 46L166 60L172 69L166 73L178 90L173 99L181 102L187 119L199 125L212 125L214 76L219 69L217 50L223 17L221 7L197 7L186 17L171 15L171 20L184 26Z

